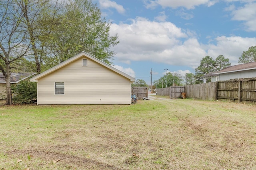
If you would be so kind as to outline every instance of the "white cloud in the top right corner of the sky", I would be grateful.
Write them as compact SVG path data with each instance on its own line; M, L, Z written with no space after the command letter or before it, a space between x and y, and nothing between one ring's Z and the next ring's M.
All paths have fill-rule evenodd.
M244 21L247 31L256 31L256 3L248 3L243 7L234 9L234 6L230 6L227 10L232 11L232 20Z

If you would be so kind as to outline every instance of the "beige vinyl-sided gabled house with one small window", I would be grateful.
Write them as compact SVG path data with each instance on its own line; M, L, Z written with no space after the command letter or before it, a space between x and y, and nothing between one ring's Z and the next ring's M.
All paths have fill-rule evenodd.
M37 104L131 104L135 78L82 52L30 81Z

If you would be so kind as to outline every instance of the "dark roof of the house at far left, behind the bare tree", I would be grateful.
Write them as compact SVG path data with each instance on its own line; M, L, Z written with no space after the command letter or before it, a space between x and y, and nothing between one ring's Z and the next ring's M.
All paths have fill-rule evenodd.
M21 80L29 78L30 76L36 74L35 72L18 72L11 73L11 83L18 83ZM6 83L3 73L0 72L0 83Z

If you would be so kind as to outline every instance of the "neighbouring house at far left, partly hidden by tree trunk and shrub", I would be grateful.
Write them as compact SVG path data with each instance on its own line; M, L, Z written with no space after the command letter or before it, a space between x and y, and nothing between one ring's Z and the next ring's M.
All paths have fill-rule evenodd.
M11 83L18 84L20 81L29 78L36 74L35 72L22 72L22 73L11 73ZM6 98L6 81L2 72L0 72L0 99Z

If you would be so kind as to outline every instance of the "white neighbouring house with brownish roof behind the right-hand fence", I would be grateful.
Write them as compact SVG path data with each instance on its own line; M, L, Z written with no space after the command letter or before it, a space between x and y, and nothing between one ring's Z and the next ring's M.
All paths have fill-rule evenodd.
M212 75L219 76L220 81L236 78L255 78L256 62L228 66L223 70L212 73Z

